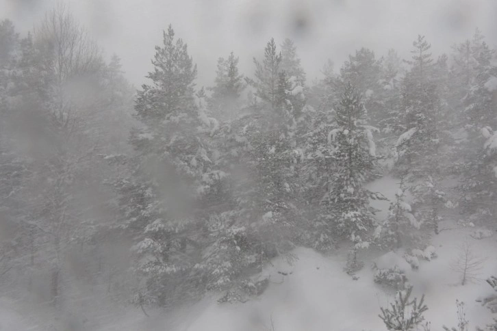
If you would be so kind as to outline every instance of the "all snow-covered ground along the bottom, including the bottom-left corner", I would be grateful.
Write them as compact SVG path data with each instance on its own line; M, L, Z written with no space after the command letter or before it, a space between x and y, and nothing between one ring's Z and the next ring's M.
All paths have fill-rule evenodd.
M451 226L442 224L441 228L445 227ZM425 316L431 321L431 330L442 330L444 324L457 325L456 299L465 302L470 330L491 321L489 310L475 300L491 290L483 279L497 274L497 258L492 254L497 248L496 236L474 239L470 236L473 231L474 228L443 230L433 237L438 257L421 261L418 270L407 272L413 293L426 295L429 310ZM461 286L460 275L451 269L450 261L465 240L472 244L475 254L487 259L480 271L482 280ZM271 323L277 331L385 330L378 314L380 306L392 302L393 293L374 283L371 261L366 261L364 269L357 273L359 280L353 280L343 271L344 254L322 256L307 248L298 248L294 253L298 259L292 263L279 259L268 266L270 286L261 297L244 304L218 304L216 297L208 297L169 314L149 311L150 317L145 317L139 308L102 307L98 323L94 320L97 317L90 317L74 330L252 331L272 330ZM94 304L98 307L100 303ZM49 330L36 327L31 318L14 307L12 302L0 300L1 331Z

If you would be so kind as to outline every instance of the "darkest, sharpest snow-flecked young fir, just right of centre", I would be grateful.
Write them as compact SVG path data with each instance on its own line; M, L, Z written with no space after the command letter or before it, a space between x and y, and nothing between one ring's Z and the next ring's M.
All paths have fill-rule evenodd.
M364 184L374 170L376 155L371 127L366 124L366 109L350 83L335 109L335 125L329 133L335 147L333 183L322 200L324 209L320 217L337 235L351 239L356 251L368 246L374 225L369 205L373 195Z

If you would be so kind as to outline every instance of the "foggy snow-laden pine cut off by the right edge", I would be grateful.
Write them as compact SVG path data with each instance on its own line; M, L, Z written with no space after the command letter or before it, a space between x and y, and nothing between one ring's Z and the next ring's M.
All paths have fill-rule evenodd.
M461 54L462 52L462 54ZM458 148L453 154L454 171L462 175L459 185L461 207L469 215L479 213L489 220L495 215L494 190L496 177L492 144L493 131L497 127L495 96L497 93L497 66L492 63L494 49L490 49L476 29L474 37L466 42L462 51L455 55L469 57L469 64L454 70L465 71L467 78L462 86L459 101ZM464 64L464 63L463 63ZM456 89L455 89L456 90ZM482 149L483 147L483 149Z

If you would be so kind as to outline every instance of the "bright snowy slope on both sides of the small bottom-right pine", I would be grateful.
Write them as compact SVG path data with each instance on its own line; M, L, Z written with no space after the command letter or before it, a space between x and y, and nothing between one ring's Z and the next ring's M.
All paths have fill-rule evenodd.
M456 299L465 302L470 330L492 321L489 310L475 302L480 295L489 293L489 286L484 281L461 286L459 274L450 268L458 244L470 231L466 228L442 232L433 241L437 259L422 261L418 271L407 273L413 293L418 296L425 293L429 306L426 320L431 321L432 330L457 325ZM497 248L494 237L469 240L475 252L481 255L488 256ZM392 302L393 293L373 282L370 263L357 274L359 280L352 280L342 271L344 260L339 256L325 257L304 248L296 250L296 254L299 259L292 266L292 274L278 278L277 267L272 268L275 279L273 276L271 279L275 283L259 299L246 304L223 305L212 300L193 321L175 330L272 330L271 319L275 330L280 331L385 330L378 314L380 306ZM488 256L481 277L496 271L496 258Z

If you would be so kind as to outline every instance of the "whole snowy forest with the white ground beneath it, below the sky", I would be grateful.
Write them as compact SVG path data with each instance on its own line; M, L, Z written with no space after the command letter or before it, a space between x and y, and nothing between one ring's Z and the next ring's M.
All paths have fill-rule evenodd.
M412 37L203 87L166 25L136 88L64 5L1 21L0 330L497 330L495 45Z

